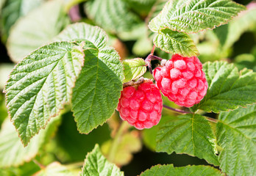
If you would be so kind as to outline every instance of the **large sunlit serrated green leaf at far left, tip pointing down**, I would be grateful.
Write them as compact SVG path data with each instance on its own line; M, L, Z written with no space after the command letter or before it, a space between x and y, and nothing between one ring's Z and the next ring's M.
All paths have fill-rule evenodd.
M10 73L4 91L24 145L71 99L83 61L82 45L51 43L26 56Z

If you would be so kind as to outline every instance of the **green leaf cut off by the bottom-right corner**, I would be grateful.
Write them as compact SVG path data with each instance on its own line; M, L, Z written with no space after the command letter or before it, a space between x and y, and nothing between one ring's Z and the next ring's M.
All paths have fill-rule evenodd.
M227 175L256 173L256 105L221 112L217 123L217 142L223 150L218 156Z

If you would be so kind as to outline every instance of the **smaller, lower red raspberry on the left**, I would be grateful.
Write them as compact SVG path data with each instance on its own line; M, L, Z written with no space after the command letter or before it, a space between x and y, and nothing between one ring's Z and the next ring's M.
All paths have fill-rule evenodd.
M162 109L160 90L152 81L146 81L136 88L125 87L121 92L117 108L121 119L139 130L157 125Z

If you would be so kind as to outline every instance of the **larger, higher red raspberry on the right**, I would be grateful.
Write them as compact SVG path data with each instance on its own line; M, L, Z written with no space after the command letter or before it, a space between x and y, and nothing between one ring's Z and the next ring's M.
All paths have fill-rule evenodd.
M208 89L202 63L196 56L175 54L165 66L155 68L153 76L163 95L179 106L199 103Z

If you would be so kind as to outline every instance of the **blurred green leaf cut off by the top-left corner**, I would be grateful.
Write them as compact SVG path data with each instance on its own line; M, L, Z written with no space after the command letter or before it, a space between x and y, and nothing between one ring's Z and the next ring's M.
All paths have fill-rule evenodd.
M31 10L39 7L44 0L6 0L1 10L2 33L8 36L11 26Z

